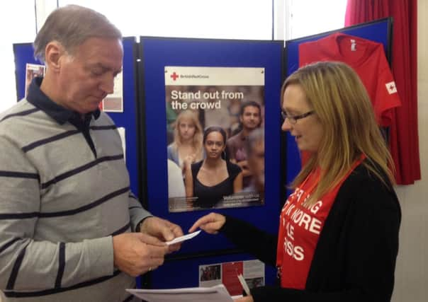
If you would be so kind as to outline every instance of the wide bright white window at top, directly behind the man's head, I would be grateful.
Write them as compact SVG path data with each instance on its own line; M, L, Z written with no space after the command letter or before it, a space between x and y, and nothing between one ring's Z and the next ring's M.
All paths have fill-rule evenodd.
M271 40L272 1L266 0L60 0L107 16L124 36Z

